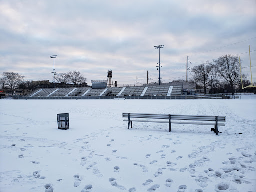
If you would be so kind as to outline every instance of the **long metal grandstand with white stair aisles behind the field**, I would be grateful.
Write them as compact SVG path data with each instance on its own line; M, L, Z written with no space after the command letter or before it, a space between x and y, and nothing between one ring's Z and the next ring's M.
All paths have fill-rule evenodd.
M182 85L37 88L18 99L185 99Z

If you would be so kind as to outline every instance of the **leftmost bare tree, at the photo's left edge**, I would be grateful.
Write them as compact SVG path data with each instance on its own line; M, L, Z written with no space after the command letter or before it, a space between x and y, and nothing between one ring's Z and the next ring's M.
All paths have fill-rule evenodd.
M11 89L12 94L25 78L25 76L15 72L3 72L2 76L3 77L0 79L1 83L4 83L6 88Z

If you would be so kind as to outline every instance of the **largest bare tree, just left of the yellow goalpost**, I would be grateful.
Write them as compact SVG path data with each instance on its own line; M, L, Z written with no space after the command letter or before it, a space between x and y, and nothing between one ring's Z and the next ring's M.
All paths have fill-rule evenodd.
M238 56L223 55L213 61L217 73L230 83L231 92L234 94L234 85L238 84L240 79L240 65Z

